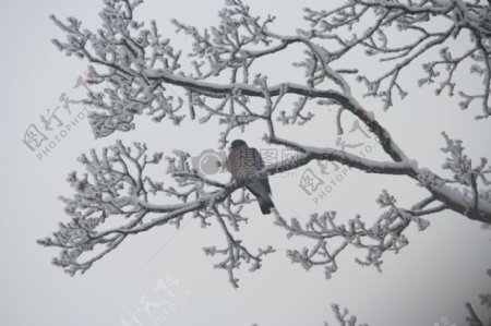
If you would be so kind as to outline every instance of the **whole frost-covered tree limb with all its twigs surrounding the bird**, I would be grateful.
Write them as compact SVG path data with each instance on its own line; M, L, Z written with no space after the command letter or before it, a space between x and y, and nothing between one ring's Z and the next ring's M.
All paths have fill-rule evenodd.
M444 209L491 224L488 181L491 169L484 158L478 165L472 164L464 154L462 141L443 134L446 142L443 152L448 156L443 168L451 172L452 179L419 167L351 89L354 82L362 82L366 95L379 98L382 109L388 108L394 106L395 93L403 98L406 95L404 71L418 60L426 60L427 76L419 85L445 75L436 93L447 88L453 95L458 88L457 69L469 63L470 73L483 80L483 89L475 94L458 90L463 107L480 101L483 108L480 118L488 118L491 14L489 5L481 2L346 0L330 11L306 9L309 26L294 35L283 35L274 31L274 16L255 16L242 1L228 0L219 12L219 23L211 28L200 31L172 22L178 33L192 40L192 50L185 53L189 56L171 46L155 21L145 24L136 20L135 10L142 3L139 0L105 0L100 12L103 24L95 32L83 29L75 17L67 22L51 19L67 35L64 41L53 40L55 45L68 56L80 57L91 64L88 83L93 87L85 102L94 108L89 121L96 137L129 131L134 128L134 117L145 113L156 122L169 119L180 124L188 122L187 118L199 123L218 122L221 126L218 143L223 148L230 134L263 123L264 141L290 148L296 156L268 165L259 173L274 174L312 160L325 160L369 173L408 177L428 190L427 197L410 208L397 206L383 192L379 203L386 210L370 226L367 217L361 216L340 224L334 212L313 214L304 226L297 219L288 222L277 215L277 225L289 236L315 242L312 249L289 251L290 258L306 268L323 265L330 276L337 269L336 257L347 246L366 252L364 258L358 261L360 264L379 267L385 252L398 252L407 244L405 231L411 224L424 230L428 220L423 217ZM430 28L431 22L438 22L436 27L441 28ZM394 33L407 37L398 37L396 41ZM462 53L454 52L452 41L466 35L469 47ZM270 85L267 75L256 70L256 62L291 47L304 50L304 56L292 62L303 77ZM380 75L371 76L363 71L366 67L338 65L340 58L359 49L378 59ZM432 57L432 51L439 57ZM263 105L258 106L256 101ZM289 126L308 125L315 119L315 110L323 106L336 108L332 125L338 134L344 133L342 114L349 114L378 140L386 158L375 160L327 145L300 144L285 134ZM241 263L251 264L251 270L260 268L262 258L273 249L252 253L236 234L247 220L242 207L251 202L243 184L233 180L221 183L201 176L190 168L190 155L184 150L165 158L167 179L156 181L151 172L163 164L163 158L158 153L148 156L144 144L128 147L120 142L101 154L92 150L82 156L86 173L70 174L69 182L76 193L72 198L62 198L71 220L60 224L53 237L39 241L61 249L53 263L72 275L84 273L128 236L163 225L179 227L183 218L193 217L203 227L217 224L221 229L226 246L208 246L205 253L223 256L215 266L227 270L235 287L233 271Z

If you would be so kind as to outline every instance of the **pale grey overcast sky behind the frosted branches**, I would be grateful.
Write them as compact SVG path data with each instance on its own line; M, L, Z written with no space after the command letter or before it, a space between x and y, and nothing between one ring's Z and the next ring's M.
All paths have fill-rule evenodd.
M74 89L73 85L86 65L79 59L67 58L51 45L51 38L63 35L48 15L55 13L60 19L74 15L84 26L94 27L99 24L100 2L0 0L3 110L0 120L0 325L124 325L121 318L129 321L128 316L141 307L142 295L153 302L167 302L167 311L164 305L152 309L154 316L165 315L166 319L154 319L152 324L142 313L143 326L253 323L314 326L323 325L324 321L334 323L330 305L335 302L349 307L359 321L380 326L432 326L442 316L457 326L465 325L465 301L474 303L481 316L487 316L479 306L478 294L491 291L486 275L486 269L491 267L491 233L451 212L432 216L432 225L424 232L410 228L407 234L410 244L398 255L385 256L382 274L357 265L354 258L361 254L354 251L342 254L339 270L331 280L324 278L322 268L307 273L291 265L285 251L308 242L287 240L271 216L258 214L255 204L247 208L251 220L239 238L253 249L272 244L277 252L266 256L263 268L256 273L247 273L243 267L238 274L241 280L237 290L228 283L224 270L213 268L219 257L206 257L202 250L225 244L219 227L201 229L197 220L184 221L180 231L161 227L130 237L83 276L70 277L52 266L51 257L58 251L41 247L36 240L49 236L58 222L68 220L57 197L72 194L65 177L72 170L82 171L75 160L81 153L101 148L117 138L147 142L151 152L167 154L172 148L184 148L197 155L202 149L217 147L219 130L214 126L184 123L183 128L176 128L167 121L153 123L146 117L137 119L134 131L98 141L92 136L87 121L80 119L81 123L41 160L22 143L27 126L35 123L41 128L39 116L59 106L62 93L73 98L83 96L82 89ZM276 15L276 32L291 34L299 24L306 26L301 21L302 8L321 9L327 1L249 0L248 3L258 14ZM147 0L140 7L136 19L157 20L163 28L160 33L175 39L177 48L184 48L189 39L183 34L173 35L170 19L208 26L216 23L216 12L223 4L221 0ZM289 56L295 56L295 51ZM284 56L267 63L272 84L290 79L292 60ZM360 61L355 60L347 59L346 67L350 68L350 62L359 65ZM419 65L412 71L414 75L404 75L411 90L406 100L397 101L388 112L370 108L406 154L440 172L444 160L440 132L445 130L451 136L464 140L475 160L491 157L489 119L476 121L478 108L460 111L457 99L435 98L431 88L416 88ZM464 75L463 84L472 89L480 87L481 81L465 80ZM75 114L83 112L81 106L72 109L69 117L60 108L63 122L70 123ZM284 135L313 145L334 146L334 116L323 110L316 112L319 120L311 126L295 128ZM258 126L241 137L264 147L262 133ZM315 165L310 167L319 172ZM161 171L164 174L164 168ZM355 214L373 219L381 213L375 198L382 189L408 206L424 194L411 180L349 171L344 182L316 205L298 185L303 171L301 168L298 176L272 178L276 206L285 217L307 219L312 212L338 210L339 218L345 220ZM323 178L330 181L330 177ZM168 282L170 276L179 280L172 292L154 291L159 279ZM172 285L168 286L170 291ZM181 297L171 295L176 293ZM172 312L169 312L171 304Z

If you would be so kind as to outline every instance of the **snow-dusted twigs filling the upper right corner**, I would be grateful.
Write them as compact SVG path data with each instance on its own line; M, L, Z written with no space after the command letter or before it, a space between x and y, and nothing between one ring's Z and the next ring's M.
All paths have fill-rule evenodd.
M395 94L403 99L407 95L400 83L400 74L421 58L420 60L426 60L422 64L426 76L418 81L418 85L440 82L435 94L440 95L447 88L451 96L457 87L454 73L459 67L465 69L463 63L467 61L470 65L469 72L482 79L483 87L477 94L458 90L463 98L460 107L466 109L476 100L480 101L483 111L477 116L478 119L491 114L491 10L484 1L350 0L332 11L306 9L306 20L311 29L302 33L311 39L323 41L324 48L330 49L328 63L334 63L354 48L363 49L367 56L380 62L392 63L387 64L388 68L380 69L379 71L384 72L376 77L361 73L357 76L367 87L366 95L380 98L384 109L394 106ZM368 28L363 27L368 21L373 23ZM358 29L361 32L354 32ZM400 33L405 34L402 44L400 40L393 39L394 35ZM459 36L460 39L467 38L471 41L471 47L464 53L451 49ZM423 57L424 53L435 50L440 60Z

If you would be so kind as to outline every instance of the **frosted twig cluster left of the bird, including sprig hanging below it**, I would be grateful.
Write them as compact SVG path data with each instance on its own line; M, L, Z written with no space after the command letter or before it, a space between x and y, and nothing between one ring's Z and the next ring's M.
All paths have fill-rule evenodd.
M200 219L202 227L211 226L209 218L217 216L228 243L225 252L229 253L229 258L216 267L227 269L230 281L237 286L233 269L241 262L252 259L251 269L255 270L261 266L261 257L273 250L260 250L254 255L232 238L227 225L238 231L239 225L247 221L241 209L251 202L249 195L241 191L241 196L232 198L230 194L240 188L238 184L207 180L190 168L189 157L178 150L175 156L165 158L167 173L175 180L175 184L166 184L151 179L146 172L151 166L161 164L163 153L148 155L144 144L134 143L129 147L117 142L99 155L95 150L91 150L89 156L82 155L80 161L87 173L83 177L70 173L68 181L76 193L72 198L61 197L71 220L60 224L51 238L38 243L61 249L60 256L52 262L55 265L71 275L83 274L130 234L164 225L179 228L188 213ZM161 201L171 203L156 204ZM205 252L220 253L209 247Z

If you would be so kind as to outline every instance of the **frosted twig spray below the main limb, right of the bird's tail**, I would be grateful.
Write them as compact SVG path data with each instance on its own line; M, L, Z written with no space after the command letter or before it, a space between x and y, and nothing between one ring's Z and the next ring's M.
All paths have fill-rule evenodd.
M287 254L292 263L300 264L307 270L314 266L324 266L325 276L330 279L338 269L337 256L349 245L366 251L363 258L356 258L358 264L374 266L381 271L382 255L391 251L398 253L409 243L404 231L411 224L416 225L419 231L423 231L430 222L422 216L445 209L443 205L427 208L432 202L434 198L430 197L411 209L404 209L396 206L396 200L383 191L378 203L386 210L370 227L359 215L346 224L339 224L336 212L325 212L321 215L314 213L304 226L298 218L288 222L276 215L276 225L288 231L288 238L306 237L314 241L311 249L289 250Z

